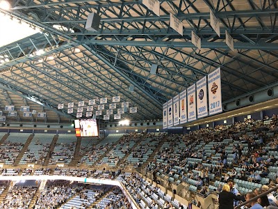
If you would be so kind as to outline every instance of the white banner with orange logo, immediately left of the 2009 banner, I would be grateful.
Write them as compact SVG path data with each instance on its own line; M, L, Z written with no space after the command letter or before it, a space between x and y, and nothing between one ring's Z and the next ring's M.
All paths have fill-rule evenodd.
M187 89L188 122L196 120L196 84Z

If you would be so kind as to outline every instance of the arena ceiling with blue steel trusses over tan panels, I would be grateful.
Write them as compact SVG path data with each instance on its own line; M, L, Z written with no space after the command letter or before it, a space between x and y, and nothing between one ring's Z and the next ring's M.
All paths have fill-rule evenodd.
M219 67L224 104L277 82L274 0L165 0L160 1L160 17L142 1L10 4L8 15L40 27L42 33L0 47L0 55L10 58L0 65L0 72L5 72L0 75L0 109L30 106L47 112L47 118L24 118L19 113L7 116L9 121L67 123L76 111L67 114L67 109L56 108L58 104L88 104L99 98L111 103L116 95L138 107L136 114L126 112L124 118L162 118L164 102ZM211 27L210 10L220 20L220 37ZM98 31L85 29L92 12L101 17ZM170 13L181 20L183 36L170 27ZM201 38L202 49L192 44L191 31ZM234 38L234 52L225 43L225 31ZM0 37L1 33L5 30ZM44 54L34 55L39 49ZM153 64L158 65L156 75L150 73Z

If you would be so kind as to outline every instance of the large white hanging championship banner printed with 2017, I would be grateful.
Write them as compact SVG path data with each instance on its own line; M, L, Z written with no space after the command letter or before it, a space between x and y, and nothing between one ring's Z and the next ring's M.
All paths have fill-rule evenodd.
M208 114L222 112L222 94L220 68L208 74Z

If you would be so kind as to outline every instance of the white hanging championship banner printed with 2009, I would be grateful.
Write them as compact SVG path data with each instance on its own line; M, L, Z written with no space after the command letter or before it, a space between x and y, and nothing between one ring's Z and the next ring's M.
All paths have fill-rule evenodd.
M197 81L197 118L208 116L208 99L206 88L206 76Z

